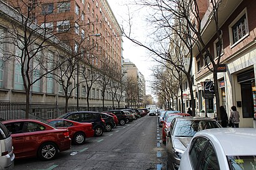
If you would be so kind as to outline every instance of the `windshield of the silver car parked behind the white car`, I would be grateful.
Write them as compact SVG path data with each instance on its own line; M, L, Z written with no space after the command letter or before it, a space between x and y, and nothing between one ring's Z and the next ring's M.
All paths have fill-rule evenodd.
M193 137L197 131L220 128L217 121L178 120L174 128L174 136Z

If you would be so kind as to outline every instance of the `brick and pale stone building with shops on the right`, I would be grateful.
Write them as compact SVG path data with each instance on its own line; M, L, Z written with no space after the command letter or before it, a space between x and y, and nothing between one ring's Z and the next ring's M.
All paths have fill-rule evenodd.
M256 4L250 0L222 1L219 6L219 26L222 45L215 32L214 21L210 20L211 12L205 12L202 18L203 36L210 54L217 60L220 57L218 84L220 105L228 115L231 106L237 106L240 113L240 126L253 127L256 113L256 20L254 18ZM209 10L210 11L210 8ZM217 51L221 49L220 56ZM196 50L195 50L196 51ZM197 111L216 110L215 97L205 98L204 82L213 81L209 60L205 60L199 52L194 54L195 91L197 95ZM210 66L211 67L211 66ZM215 85L216 86L216 85Z

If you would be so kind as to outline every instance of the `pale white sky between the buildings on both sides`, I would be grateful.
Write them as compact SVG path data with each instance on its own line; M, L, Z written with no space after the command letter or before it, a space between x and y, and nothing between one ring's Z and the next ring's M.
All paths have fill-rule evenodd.
M132 37L140 42L145 42L145 37L147 37L147 32L145 29L147 27L147 22L145 21L145 9L138 9L138 7L129 5L128 3L130 1L132 0L107 0L117 21L119 22L119 25L124 27L125 32L129 32L127 21L129 20L128 14L130 13L130 17L132 17L132 26L130 31ZM127 6L129 7L129 12ZM144 75L146 81L146 94L150 94L149 81L151 79L150 75L152 74L150 68L154 67L155 62L151 57L149 57L147 50L135 45L129 39L126 39L126 37L123 37L123 40L123 57L124 59L130 59L130 61L136 65L142 75Z

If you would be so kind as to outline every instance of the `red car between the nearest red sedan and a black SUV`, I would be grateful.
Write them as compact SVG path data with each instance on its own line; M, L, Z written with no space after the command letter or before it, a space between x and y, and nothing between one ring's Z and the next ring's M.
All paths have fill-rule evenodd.
M66 119L47 120L48 123L58 129L68 129L69 136L74 144L84 144L86 138L94 136L92 123L79 123L77 121Z

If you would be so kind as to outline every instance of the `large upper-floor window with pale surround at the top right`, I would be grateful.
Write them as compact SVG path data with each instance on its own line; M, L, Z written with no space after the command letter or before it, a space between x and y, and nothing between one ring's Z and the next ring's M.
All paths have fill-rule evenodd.
M233 33L234 44L235 42L239 41L245 35L248 34L247 18L245 14L232 27L232 33Z

